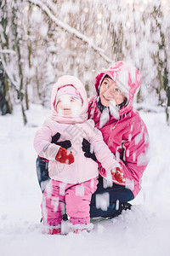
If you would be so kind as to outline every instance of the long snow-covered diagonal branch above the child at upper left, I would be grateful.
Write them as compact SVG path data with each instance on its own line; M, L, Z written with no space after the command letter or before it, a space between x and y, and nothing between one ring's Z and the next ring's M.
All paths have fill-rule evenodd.
M70 25L66 24L65 22L57 19L52 12L50 11L50 9L48 9L48 7L42 3L39 0L27 0L27 2L29 3L33 3L35 5L37 5L40 9L42 9L47 15L48 17L54 21L54 23L59 26L61 29L65 30L66 32L71 33L72 35L75 35L77 38L81 39L83 42L85 42L86 44L88 44L89 47L91 47L92 49L94 49L94 51L98 52L99 55L102 56L102 58L111 63L112 60L105 55L104 53L104 49L99 48L98 46L96 46L93 42L92 39L88 38L87 36L85 36L84 34L82 34L81 32L78 32L75 28L71 27Z

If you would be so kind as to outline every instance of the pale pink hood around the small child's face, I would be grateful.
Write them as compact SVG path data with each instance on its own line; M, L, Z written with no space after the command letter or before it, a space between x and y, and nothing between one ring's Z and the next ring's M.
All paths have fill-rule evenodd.
M73 116L72 114L69 115L60 115L55 110L55 102L58 91L61 88L64 88L66 85L72 85L79 93L82 98L82 109L79 115ZM66 88L66 87L65 87ZM51 96L51 108L53 110L52 119L58 122L74 124L74 123L82 123L88 119L88 96L84 85L82 82L77 79L76 77L65 75L58 79L57 83L54 84Z

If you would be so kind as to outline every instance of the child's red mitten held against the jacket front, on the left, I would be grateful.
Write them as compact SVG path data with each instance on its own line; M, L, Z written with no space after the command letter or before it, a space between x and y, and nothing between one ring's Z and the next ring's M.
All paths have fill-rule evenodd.
M67 149L60 147L58 153L55 156L55 160L61 164L71 165L74 163L74 156Z

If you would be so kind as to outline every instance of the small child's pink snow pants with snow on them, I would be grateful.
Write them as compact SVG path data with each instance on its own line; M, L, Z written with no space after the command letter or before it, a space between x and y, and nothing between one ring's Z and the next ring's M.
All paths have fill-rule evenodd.
M65 208L71 224L90 223L89 205L97 184L97 177L77 184L51 179L42 195L43 224L60 224Z

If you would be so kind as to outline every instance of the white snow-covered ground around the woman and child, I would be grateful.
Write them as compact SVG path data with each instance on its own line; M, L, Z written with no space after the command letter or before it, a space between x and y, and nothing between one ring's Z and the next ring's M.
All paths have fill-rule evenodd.
M170 255L170 127L165 113L141 113L150 133L150 164L132 211L96 222L81 235L41 232L41 191L33 138L50 112L31 106L28 125L19 108L0 116L0 255Z

